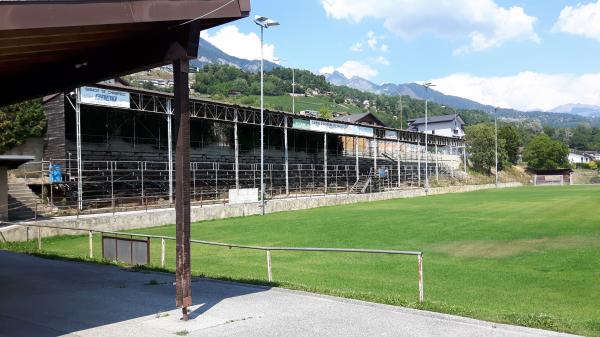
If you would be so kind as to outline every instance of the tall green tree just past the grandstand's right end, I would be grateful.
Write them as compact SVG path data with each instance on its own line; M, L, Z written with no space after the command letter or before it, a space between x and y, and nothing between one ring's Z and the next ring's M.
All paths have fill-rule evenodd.
M489 124L477 124L466 129L469 158L473 168L480 172L491 173L496 167L496 132ZM504 139L498 138L498 169L506 161Z

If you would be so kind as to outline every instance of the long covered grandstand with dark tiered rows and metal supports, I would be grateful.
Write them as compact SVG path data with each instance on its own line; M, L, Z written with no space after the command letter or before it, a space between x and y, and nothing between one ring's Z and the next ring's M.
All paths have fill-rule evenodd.
M82 100L80 91L44 100L48 131L43 167L60 165L61 175L53 184L52 203L77 205L79 182L80 208L172 202L175 141L170 138L176 134L171 125L177 125L171 120L172 95L114 83L91 88L118 93L127 101L108 106ZM221 202L229 189L258 188L260 110L205 99L191 99L190 110L192 200ZM462 139L431 135L426 155L423 134L381 124L281 111L265 111L264 120L268 198L419 187L425 160L432 181L462 176Z

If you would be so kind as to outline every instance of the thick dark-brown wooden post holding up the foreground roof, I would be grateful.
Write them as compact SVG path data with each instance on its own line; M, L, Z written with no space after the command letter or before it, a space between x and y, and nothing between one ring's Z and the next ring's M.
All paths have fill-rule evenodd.
M187 321L192 305L190 270L190 111L189 64L186 57L173 61L174 104L177 132L175 148L176 305Z

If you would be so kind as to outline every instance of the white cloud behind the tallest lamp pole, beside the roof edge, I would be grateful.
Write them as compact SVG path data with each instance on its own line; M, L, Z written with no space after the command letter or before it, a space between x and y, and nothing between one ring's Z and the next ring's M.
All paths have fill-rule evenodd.
M244 34L235 25L225 26L216 33L202 31L200 37L215 45L225 53L247 60L260 60L260 37L256 33ZM265 60L273 62L275 59L275 45L264 45ZM200 49L202 54L202 49Z

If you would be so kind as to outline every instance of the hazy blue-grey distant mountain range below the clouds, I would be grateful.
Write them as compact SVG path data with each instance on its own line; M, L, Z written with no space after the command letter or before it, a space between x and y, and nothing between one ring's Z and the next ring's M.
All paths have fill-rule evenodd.
M228 64L249 72L258 72L260 70L260 61L246 60L235 56L228 55L210 42L200 38L198 50L199 57L190 61L190 66L202 68L209 64ZM265 61L265 71L270 71L273 68L279 67L278 64ZM331 74L326 74L325 78L328 82L334 85L347 86L361 91L370 92L379 95L390 96L410 96L415 99L425 99L425 88L417 83L405 84L375 84L361 77L347 78L343 74L335 71ZM486 112L493 112L494 107L491 105L481 104L479 102L452 95L445 95L437 90L430 89L428 98L438 104L446 105L454 109L469 109ZM552 125L556 127L574 126L582 122L600 122L600 107L583 104L567 104L557 107L550 112L543 111L519 111L515 109L499 109L497 111L499 117L512 120L536 119L544 125Z

